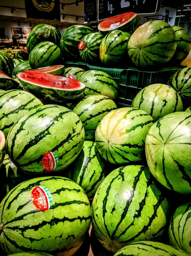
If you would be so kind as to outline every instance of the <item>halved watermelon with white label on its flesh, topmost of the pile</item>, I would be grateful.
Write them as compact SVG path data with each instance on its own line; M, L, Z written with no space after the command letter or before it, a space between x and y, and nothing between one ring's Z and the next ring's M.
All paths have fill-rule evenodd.
M110 17L103 20L98 29L101 34L106 35L111 30L119 29L132 34L140 24L140 16L132 11Z

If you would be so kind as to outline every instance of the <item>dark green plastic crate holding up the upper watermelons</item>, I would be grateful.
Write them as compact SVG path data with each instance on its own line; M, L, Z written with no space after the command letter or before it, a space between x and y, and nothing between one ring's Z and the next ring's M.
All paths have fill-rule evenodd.
M137 68L113 69L89 65L83 62L65 62L65 67L78 67L84 70L100 70L108 73L119 86L118 107L129 107L138 92L148 85L154 83L167 84L170 77L182 67L157 69L154 71L143 71Z

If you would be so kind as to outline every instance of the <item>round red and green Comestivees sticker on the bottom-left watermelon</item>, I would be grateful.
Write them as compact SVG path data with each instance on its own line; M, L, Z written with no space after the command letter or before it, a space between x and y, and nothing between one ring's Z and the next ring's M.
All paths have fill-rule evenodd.
M32 189L31 200L37 209L47 211L52 205L52 194L48 188L37 186Z

